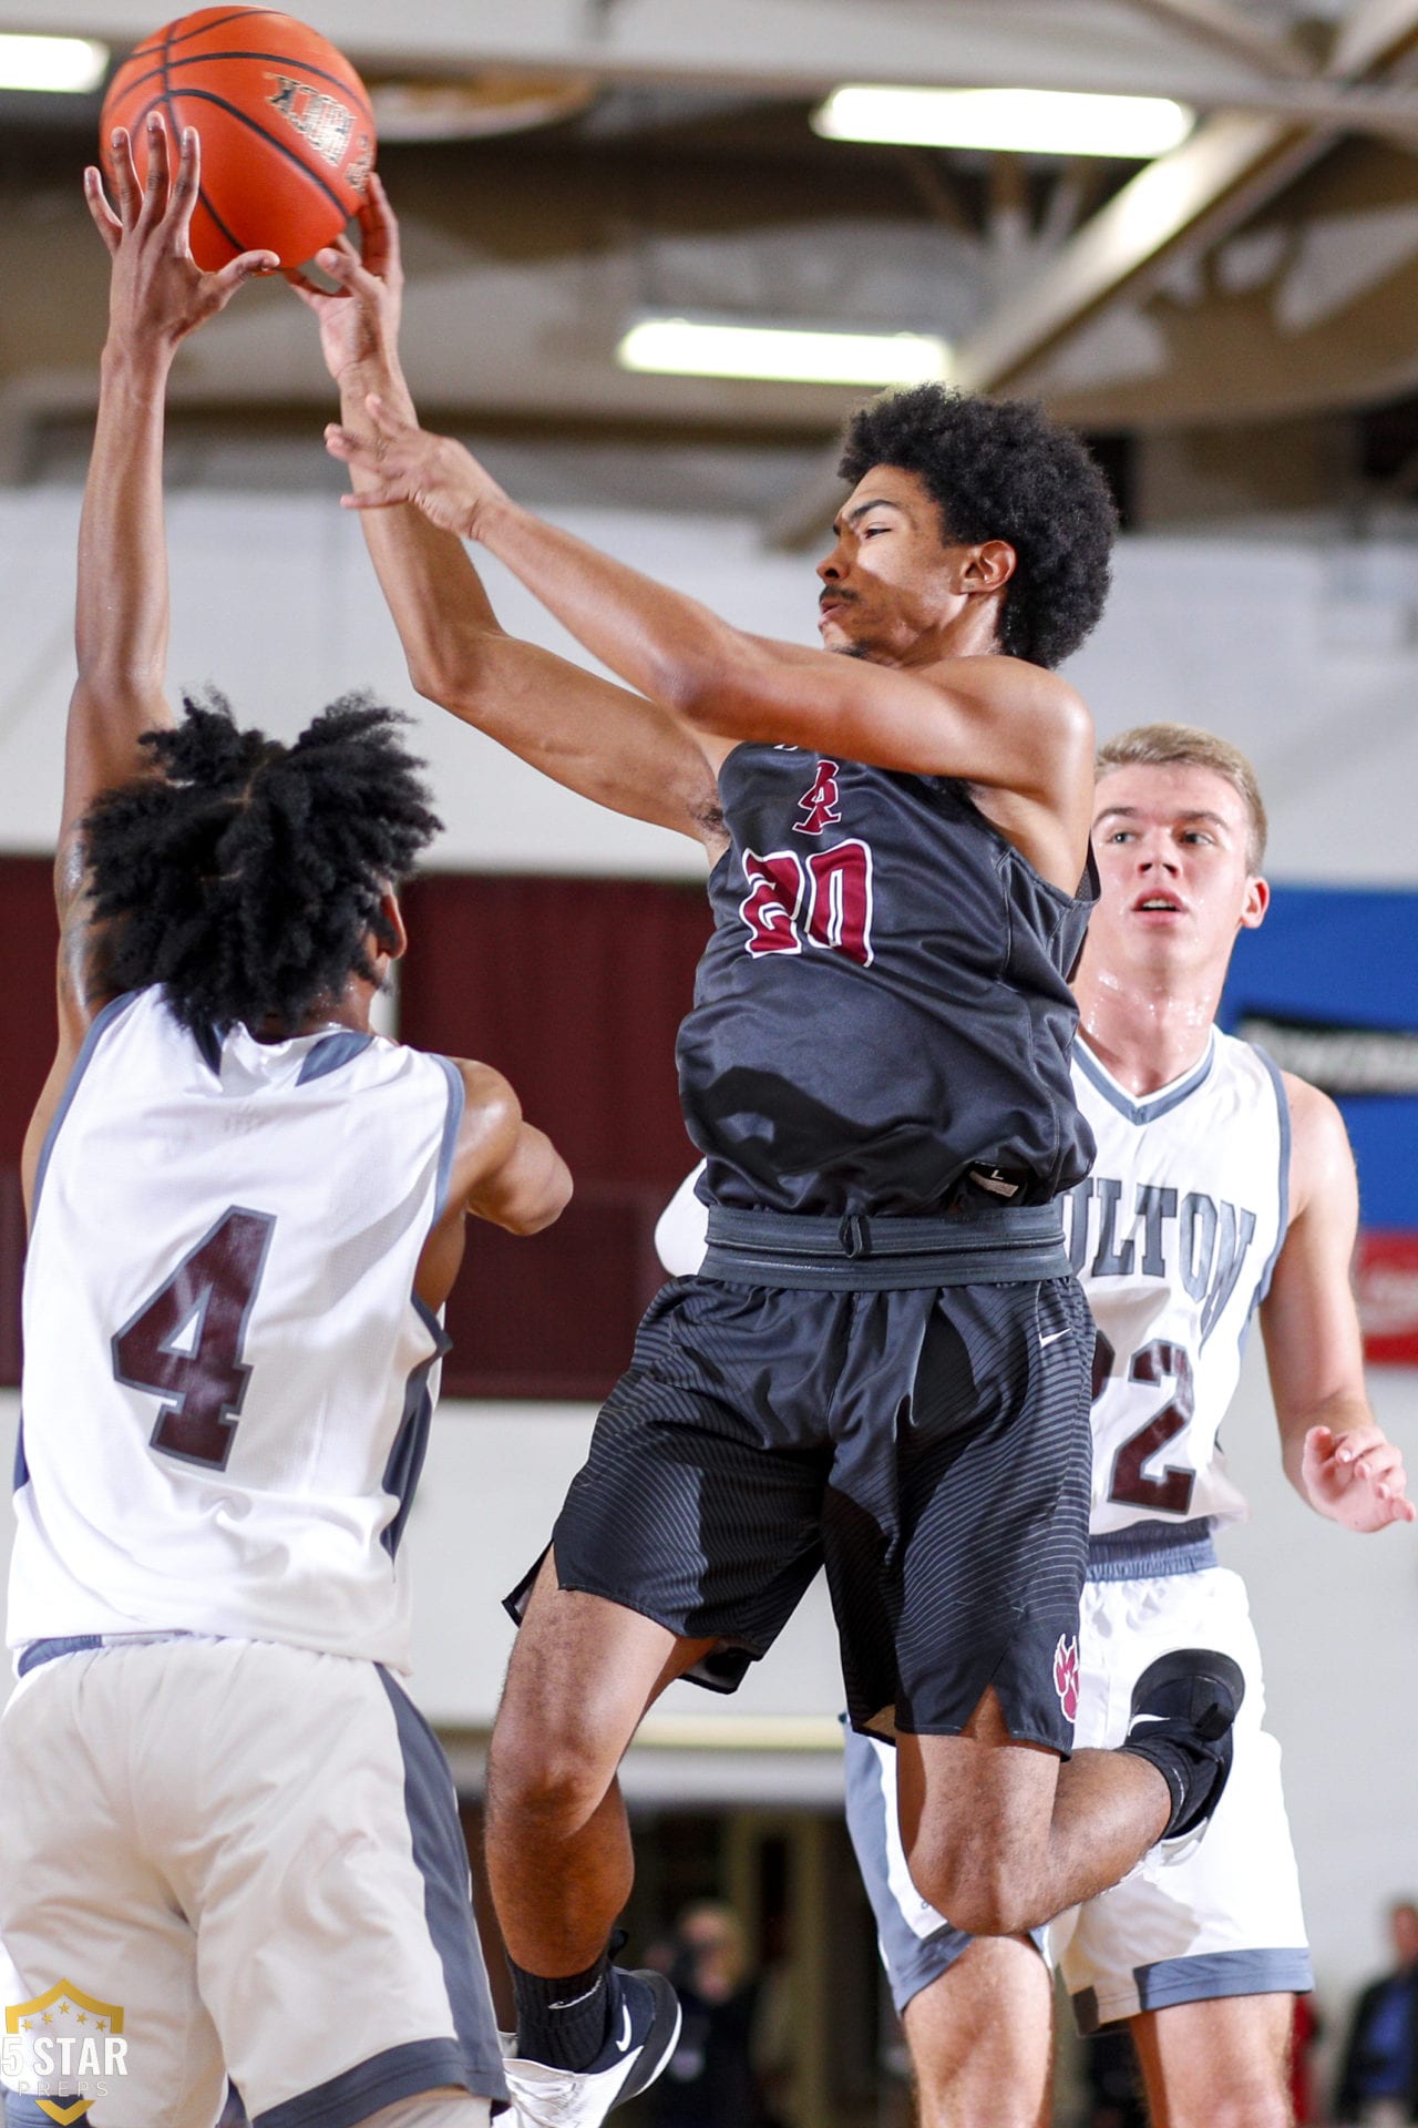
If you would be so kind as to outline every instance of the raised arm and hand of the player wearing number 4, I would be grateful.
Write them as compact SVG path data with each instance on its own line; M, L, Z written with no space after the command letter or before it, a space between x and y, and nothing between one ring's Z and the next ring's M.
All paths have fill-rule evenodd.
M198 136L183 136L176 172L162 119L149 123L147 183L125 132L115 134L117 211L98 170L85 198L113 260L94 455L79 526L77 681L64 745L64 811L55 858L60 907L60 1049L26 1141L26 1192L38 1147L94 1013L104 1004L102 941L89 921L79 826L102 789L142 772L142 732L170 724L168 553L162 432L179 343L221 311L242 281L276 264L249 251L219 275L191 260L187 228L200 183Z

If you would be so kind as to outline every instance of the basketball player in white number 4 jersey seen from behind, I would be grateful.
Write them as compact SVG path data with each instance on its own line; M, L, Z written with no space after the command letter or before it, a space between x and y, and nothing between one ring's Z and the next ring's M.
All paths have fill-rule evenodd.
M506 2090L453 1783L393 1677L400 1539L463 1215L534 1232L570 1179L497 1073L370 1030L438 826L393 713L347 700L291 747L168 713L168 366L274 260L193 266L196 134L170 185L153 123L142 192L115 149L60 1051L23 1156L0 1936L21 2032L121 2011L125 2073L68 2094L98 2128L210 2124L225 2068L261 2128L485 2128Z

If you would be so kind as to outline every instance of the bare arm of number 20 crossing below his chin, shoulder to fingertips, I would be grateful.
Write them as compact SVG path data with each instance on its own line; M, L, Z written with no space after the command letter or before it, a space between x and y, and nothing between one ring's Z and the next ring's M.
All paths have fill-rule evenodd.
M461 445L410 428L381 398L330 430L327 447L361 475L349 506L372 513L412 500L442 530L480 541L602 664L697 732L723 745L818 747L1006 792L1061 821L1059 836L1035 838L1054 845L1046 868L1076 883L1093 728L1057 675L1012 658L901 668L744 634L519 509Z

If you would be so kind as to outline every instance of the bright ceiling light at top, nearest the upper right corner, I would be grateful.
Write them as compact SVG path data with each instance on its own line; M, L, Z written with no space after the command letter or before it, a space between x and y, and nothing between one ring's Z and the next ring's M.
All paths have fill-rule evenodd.
M1065 89L889 89L846 83L812 113L829 140L984 147L1025 155L1122 155L1150 162L1193 130L1167 96L1074 96Z

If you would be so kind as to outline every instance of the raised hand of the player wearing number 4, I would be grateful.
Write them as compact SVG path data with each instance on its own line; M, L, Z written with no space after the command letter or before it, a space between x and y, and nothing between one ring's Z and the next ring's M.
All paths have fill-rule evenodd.
M113 134L117 211L108 204L96 168L83 172L83 196L113 260L108 336L123 347L172 351L179 340L223 311L253 275L272 272L274 251L242 251L221 272L202 272L191 255L191 211L202 183L202 147L196 130L183 132L176 177L172 143L162 117L147 121L147 183L138 183L132 140Z

